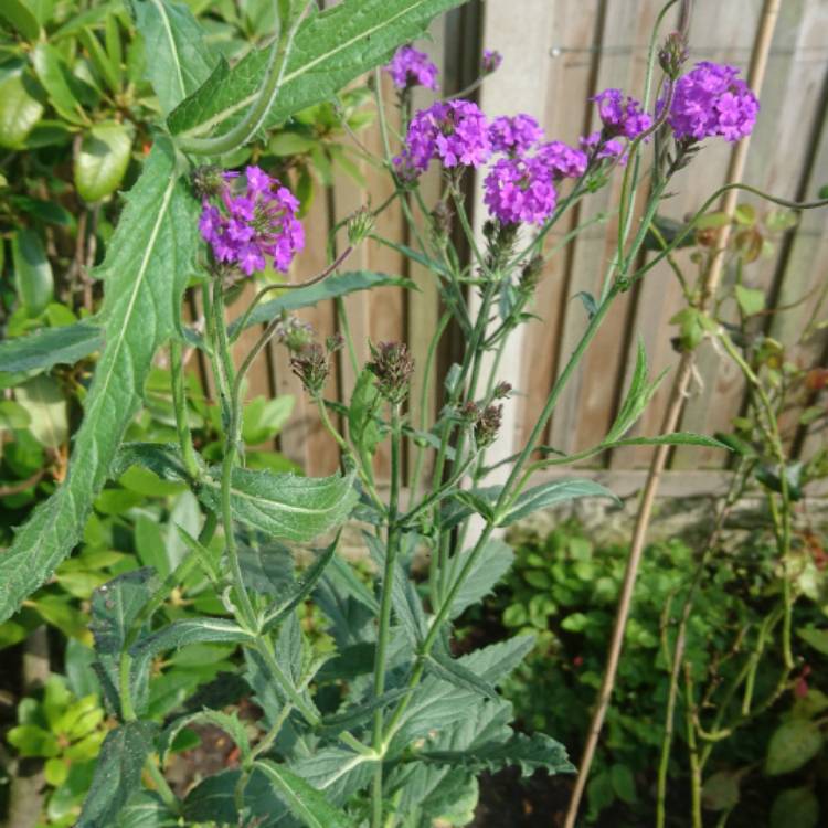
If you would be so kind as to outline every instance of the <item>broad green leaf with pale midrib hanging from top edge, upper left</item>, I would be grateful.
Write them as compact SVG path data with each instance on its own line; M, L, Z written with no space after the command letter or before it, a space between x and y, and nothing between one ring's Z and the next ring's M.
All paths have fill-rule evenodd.
M138 31L148 52L147 76L168 115L195 92L216 63L204 33L183 3L170 0L134 0Z

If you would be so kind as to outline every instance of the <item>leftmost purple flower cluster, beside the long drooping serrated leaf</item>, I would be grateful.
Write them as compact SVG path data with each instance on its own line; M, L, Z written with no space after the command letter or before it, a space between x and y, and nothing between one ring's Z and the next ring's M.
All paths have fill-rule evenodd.
M265 269L265 256L284 273L305 247L305 231L296 217L299 202L258 167L247 167L247 187L243 194L234 195L230 181L237 176L222 174L221 206L204 199L199 231L219 262L236 265L247 276Z

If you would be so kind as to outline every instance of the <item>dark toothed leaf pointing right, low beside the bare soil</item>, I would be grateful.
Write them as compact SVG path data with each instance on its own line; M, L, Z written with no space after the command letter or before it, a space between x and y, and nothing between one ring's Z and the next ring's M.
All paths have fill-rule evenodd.
M576 771L566 755L566 749L545 733L533 733L531 736L514 733L505 743L484 743L467 751L423 751L420 756L428 762L492 773L518 765L523 777L531 776L535 771L549 774Z

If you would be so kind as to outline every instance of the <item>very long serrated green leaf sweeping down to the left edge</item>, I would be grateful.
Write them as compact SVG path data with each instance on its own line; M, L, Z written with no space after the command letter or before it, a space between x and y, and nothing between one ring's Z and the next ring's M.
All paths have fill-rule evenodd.
M86 397L68 474L0 559L0 620L70 553L140 404L158 347L170 336L197 250L198 202L161 140L127 197L107 256L102 311L106 347Z

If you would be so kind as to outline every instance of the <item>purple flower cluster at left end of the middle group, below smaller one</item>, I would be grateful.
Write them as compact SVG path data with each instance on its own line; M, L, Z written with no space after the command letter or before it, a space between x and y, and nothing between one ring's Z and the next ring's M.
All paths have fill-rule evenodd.
M424 172L433 158L444 167L479 167L490 155L486 116L477 105L437 102L412 118L394 167L399 176L411 180Z

